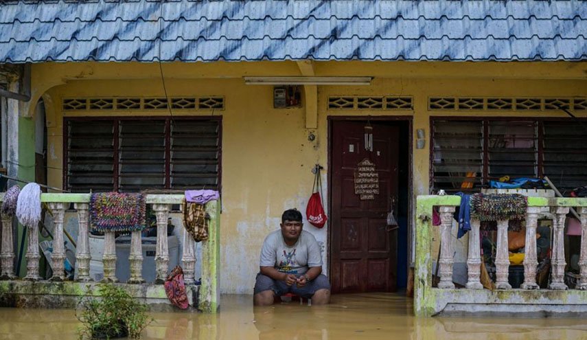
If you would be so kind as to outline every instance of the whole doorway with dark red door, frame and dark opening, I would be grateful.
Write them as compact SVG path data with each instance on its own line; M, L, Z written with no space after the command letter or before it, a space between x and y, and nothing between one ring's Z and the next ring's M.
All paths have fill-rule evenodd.
M329 122L332 292L397 291L407 276L411 117Z

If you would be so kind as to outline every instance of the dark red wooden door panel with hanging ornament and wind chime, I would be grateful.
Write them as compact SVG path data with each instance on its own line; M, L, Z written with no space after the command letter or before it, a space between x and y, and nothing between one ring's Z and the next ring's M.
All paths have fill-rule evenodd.
M331 280L334 293L395 291L397 231L387 226L398 194L398 126L371 122L372 151L365 148L367 122L332 122ZM379 194L355 194L358 163L376 165ZM406 183L407 185L407 183ZM395 201L395 200L394 200Z

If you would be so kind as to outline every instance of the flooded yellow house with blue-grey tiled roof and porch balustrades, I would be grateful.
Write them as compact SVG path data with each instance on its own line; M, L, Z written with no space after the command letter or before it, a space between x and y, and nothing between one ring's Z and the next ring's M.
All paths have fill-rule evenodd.
M586 37L579 0L3 1L0 189L49 187L52 236L3 216L0 301L71 306L110 279L168 306L179 264L190 304L215 313L220 294L252 294L264 237L306 211L317 175L328 221L303 228L334 295L413 287L418 316L586 313L587 199L522 192L517 271L508 218L485 234L493 290L479 220L457 238L452 218L455 193L505 176L587 185ZM197 244L188 189L220 192ZM145 192L151 243L89 232L92 192Z

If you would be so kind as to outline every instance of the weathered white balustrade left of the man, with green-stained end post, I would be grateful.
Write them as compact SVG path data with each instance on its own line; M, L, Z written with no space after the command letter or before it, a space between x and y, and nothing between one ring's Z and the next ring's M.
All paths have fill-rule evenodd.
M3 194L0 193L0 202ZM90 277L90 249L89 249L89 201L90 194L41 194L41 202L47 203L54 220L53 252L51 254L53 277L51 281L65 281L64 260L65 247L63 240L63 221L66 209L71 203L78 213L78 239L76 241L76 262L78 275L76 281L91 282ZM154 284L163 284L169 271L170 254L168 249L168 216L172 205L181 204L181 194L148 194L146 203L152 205L157 217L157 246L155 250L156 280ZM220 287L220 215L217 201L210 201L205 205L206 212L211 216L209 220L209 239L202 243L202 271L201 285L198 297L198 308L208 313L216 313L218 310ZM14 280L14 258L11 216L1 216L2 238L0 250L0 279ZM142 264L143 252L141 243L141 231L133 231L130 240L130 279L127 284L143 284ZM185 284L195 284L196 256L194 240L187 236L182 242L181 267L184 273ZM27 275L25 280L39 281L39 260L41 256L38 247L38 227L34 226L27 233ZM104 233L104 279L102 282L117 282L116 272L116 247L113 231Z

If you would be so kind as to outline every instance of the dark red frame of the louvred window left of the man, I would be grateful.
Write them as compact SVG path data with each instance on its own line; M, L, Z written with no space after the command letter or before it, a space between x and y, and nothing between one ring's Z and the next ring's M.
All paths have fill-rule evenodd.
M170 116L170 115L140 115L140 116L84 116L84 117L63 117L62 129L62 189L70 190L68 185L68 145L69 145L69 122L90 122L95 120L104 120L113 122L113 189L112 191L119 192L119 122L121 120L133 121L149 121L149 120L164 120L165 121L165 185L161 190L171 189L171 122L172 121L217 121L218 122L218 192L222 192L222 115L196 115L196 116Z

